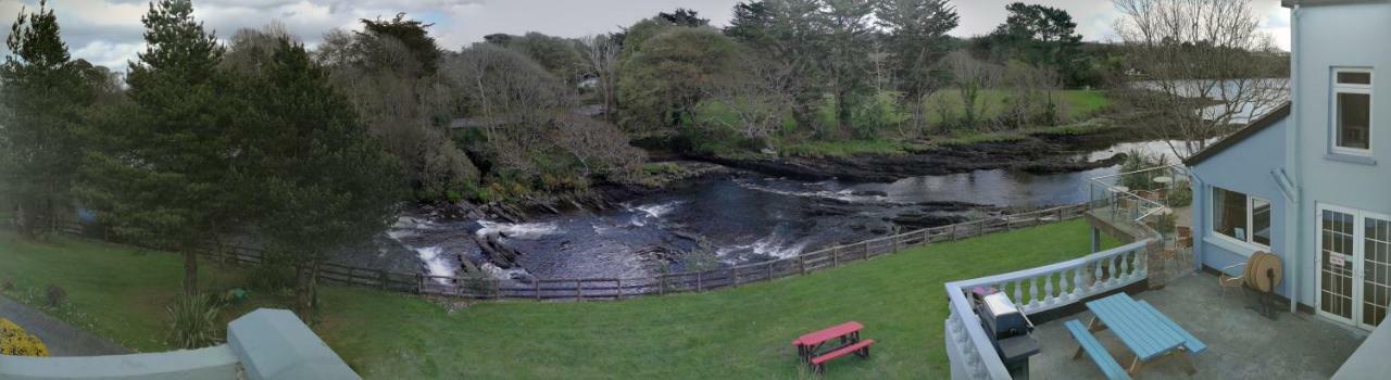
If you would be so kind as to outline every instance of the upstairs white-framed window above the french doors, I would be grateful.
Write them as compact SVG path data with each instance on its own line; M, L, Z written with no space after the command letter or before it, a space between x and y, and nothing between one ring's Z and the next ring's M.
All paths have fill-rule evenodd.
M1367 155L1372 150L1372 71L1334 72L1334 150Z

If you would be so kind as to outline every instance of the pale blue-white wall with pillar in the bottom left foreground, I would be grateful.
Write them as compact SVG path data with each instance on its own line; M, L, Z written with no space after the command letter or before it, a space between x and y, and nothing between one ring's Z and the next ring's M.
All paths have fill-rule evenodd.
M259 309L231 323L228 344L160 354L89 358L0 355L0 379L360 379L288 310Z

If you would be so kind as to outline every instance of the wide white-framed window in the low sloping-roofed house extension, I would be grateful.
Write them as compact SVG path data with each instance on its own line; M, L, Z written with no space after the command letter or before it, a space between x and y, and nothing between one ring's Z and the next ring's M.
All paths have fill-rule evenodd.
M1270 200L1213 187L1213 232L1270 246Z

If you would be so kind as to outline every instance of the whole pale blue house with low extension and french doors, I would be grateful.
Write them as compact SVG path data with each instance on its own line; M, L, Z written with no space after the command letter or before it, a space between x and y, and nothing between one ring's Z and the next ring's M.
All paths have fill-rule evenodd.
M1185 161L1195 263L1271 252L1291 310L1372 330L1391 303L1391 3L1283 6L1291 104Z

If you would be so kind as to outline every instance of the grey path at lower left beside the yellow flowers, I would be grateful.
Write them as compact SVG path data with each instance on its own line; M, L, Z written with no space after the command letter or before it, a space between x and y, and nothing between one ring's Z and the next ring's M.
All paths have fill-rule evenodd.
M50 356L97 356L134 352L107 338L72 327L67 322L6 296L0 296L0 317L8 319L19 324L29 334L38 335L43 341L43 345L49 347Z

